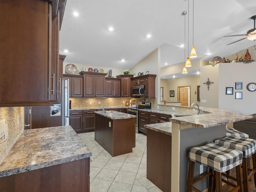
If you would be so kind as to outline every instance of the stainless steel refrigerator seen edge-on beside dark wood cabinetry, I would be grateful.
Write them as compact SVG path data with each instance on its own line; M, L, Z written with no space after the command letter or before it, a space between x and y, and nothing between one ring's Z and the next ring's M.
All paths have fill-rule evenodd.
M69 79L62 79L62 125L69 125Z

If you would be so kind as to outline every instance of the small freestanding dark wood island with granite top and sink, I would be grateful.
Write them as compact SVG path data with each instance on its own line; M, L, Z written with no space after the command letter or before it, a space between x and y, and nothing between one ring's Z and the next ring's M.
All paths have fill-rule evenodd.
M118 111L94 113L95 141L113 157L132 152L136 116Z

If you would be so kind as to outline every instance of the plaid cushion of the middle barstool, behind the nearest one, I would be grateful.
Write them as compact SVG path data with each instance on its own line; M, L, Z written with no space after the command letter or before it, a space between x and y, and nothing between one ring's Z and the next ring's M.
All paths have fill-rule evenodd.
M256 152L256 140L250 138L226 136L214 142L226 147L242 151L243 157L249 157Z

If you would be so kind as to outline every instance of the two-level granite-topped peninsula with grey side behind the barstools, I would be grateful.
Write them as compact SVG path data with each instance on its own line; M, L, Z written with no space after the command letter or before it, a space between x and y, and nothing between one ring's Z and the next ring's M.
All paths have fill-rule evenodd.
M175 109L180 110L182 107L170 106L170 109L170 113L177 114ZM188 107L183 109L184 112L189 111ZM165 113L167 111L165 108ZM200 107L200 112L200 115L170 118L171 122L145 125L148 129L147 178L164 191L186 190L190 148L226 136L227 123L252 118L249 115L217 108ZM164 174L161 171L163 169ZM199 175L199 170L199 164L196 164L195 175ZM206 179L198 184L201 190L207 188Z

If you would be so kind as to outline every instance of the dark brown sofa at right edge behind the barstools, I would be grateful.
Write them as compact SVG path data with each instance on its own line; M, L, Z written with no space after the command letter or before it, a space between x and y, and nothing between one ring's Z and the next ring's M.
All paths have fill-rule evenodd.
M256 139L256 113L252 116L252 119L234 122L233 125L236 130L247 133L249 138Z

